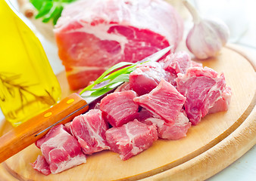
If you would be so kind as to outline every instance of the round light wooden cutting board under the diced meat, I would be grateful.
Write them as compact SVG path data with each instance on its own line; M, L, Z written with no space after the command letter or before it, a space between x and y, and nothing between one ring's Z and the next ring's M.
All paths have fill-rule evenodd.
M236 161L256 143L256 76L250 58L226 47L219 56L202 62L217 72L224 72L233 97L227 112L205 116L189 129L181 140L158 140L151 148L127 161L117 153L98 152L87 163L62 173L44 176L30 163L41 154L35 145L9 158L0 167L4 180L201 180L207 179ZM58 75L63 96L70 94L64 73ZM0 134L11 129L8 122Z

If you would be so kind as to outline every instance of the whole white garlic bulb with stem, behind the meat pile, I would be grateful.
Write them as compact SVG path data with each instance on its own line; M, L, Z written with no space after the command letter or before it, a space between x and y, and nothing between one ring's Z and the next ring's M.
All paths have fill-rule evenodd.
M206 20L199 17L187 1L183 4L192 14L194 26L186 38L186 46L198 59L207 59L218 54L229 38L229 29L221 20Z

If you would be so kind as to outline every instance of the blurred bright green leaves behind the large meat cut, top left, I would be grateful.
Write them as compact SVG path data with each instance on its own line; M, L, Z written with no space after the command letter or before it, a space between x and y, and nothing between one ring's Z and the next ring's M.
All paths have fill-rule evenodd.
M42 18L42 22L48 23L52 20L55 25L65 5L75 2L76 0L30 0L31 4L36 8L38 14L36 19Z

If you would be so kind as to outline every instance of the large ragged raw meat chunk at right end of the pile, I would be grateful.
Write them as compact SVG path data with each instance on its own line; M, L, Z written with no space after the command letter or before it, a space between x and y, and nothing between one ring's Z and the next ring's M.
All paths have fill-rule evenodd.
M192 67L178 74L177 90L186 97L185 111L192 124L198 124L226 87L224 75L208 67Z

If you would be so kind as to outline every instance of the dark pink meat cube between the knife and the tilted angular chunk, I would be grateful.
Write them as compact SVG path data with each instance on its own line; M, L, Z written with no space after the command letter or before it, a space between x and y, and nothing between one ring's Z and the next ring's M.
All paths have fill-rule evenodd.
M139 105L133 102L136 92L126 90L108 94L101 100L100 109L113 127L133 121L139 115Z

